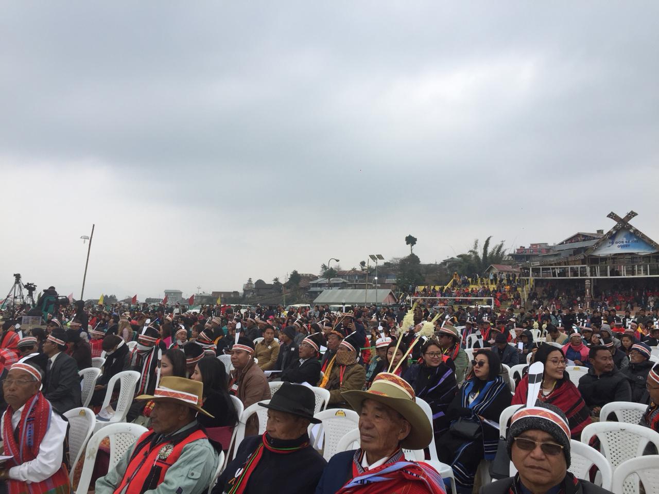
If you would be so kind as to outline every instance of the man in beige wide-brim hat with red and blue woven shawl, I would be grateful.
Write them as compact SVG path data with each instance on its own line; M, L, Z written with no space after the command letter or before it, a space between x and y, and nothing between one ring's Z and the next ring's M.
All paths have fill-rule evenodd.
M368 391L343 396L359 414L360 448L331 457L316 494L445 492L433 468L403 456L403 448L424 449L432 439L432 425L407 381L382 372Z

